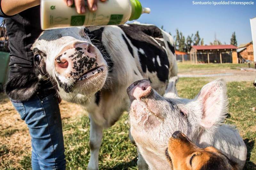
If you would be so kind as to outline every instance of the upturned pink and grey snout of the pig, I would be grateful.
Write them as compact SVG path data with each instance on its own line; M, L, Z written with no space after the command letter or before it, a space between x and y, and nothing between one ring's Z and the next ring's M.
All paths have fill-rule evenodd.
M127 88L127 93L130 100L139 100L142 97L148 97L151 93L152 87L149 80L139 80L134 82Z

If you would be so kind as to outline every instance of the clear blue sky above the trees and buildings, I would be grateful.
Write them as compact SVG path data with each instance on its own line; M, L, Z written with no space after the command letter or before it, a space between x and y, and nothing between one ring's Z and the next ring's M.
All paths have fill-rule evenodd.
M209 45L214 41L215 33L222 43L230 44L232 32L235 31L238 44L252 41L250 18L256 17L256 0L252 0L254 5L245 6L193 5L193 0L140 0L140 2L144 7L151 8L151 13L143 14L138 21L156 26L163 25L164 30L171 32L172 35L176 34L176 28L185 35L185 38L198 30L205 44Z

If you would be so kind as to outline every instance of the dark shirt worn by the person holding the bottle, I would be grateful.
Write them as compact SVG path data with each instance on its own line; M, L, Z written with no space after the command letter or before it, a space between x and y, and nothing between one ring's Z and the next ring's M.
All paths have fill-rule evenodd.
M10 18L5 18L10 48L9 78L33 67L31 46L42 32L40 5L29 8Z

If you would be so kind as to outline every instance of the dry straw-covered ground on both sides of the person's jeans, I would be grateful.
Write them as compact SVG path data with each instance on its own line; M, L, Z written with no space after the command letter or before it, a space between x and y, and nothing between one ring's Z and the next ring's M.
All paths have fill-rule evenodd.
M86 114L84 110L73 103L60 103L62 122L72 120L72 117ZM20 119L9 98L0 93L0 169L6 168L5 162L12 161L12 168L21 168L23 156L31 152L31 138L26 123Z

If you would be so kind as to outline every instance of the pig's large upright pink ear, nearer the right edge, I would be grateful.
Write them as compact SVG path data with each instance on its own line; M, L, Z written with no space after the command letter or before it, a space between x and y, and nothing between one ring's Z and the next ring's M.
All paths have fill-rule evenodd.
M219 126L228 110L227 87L223 79L204 85L196 97L201 107L201 126L211 128Z

